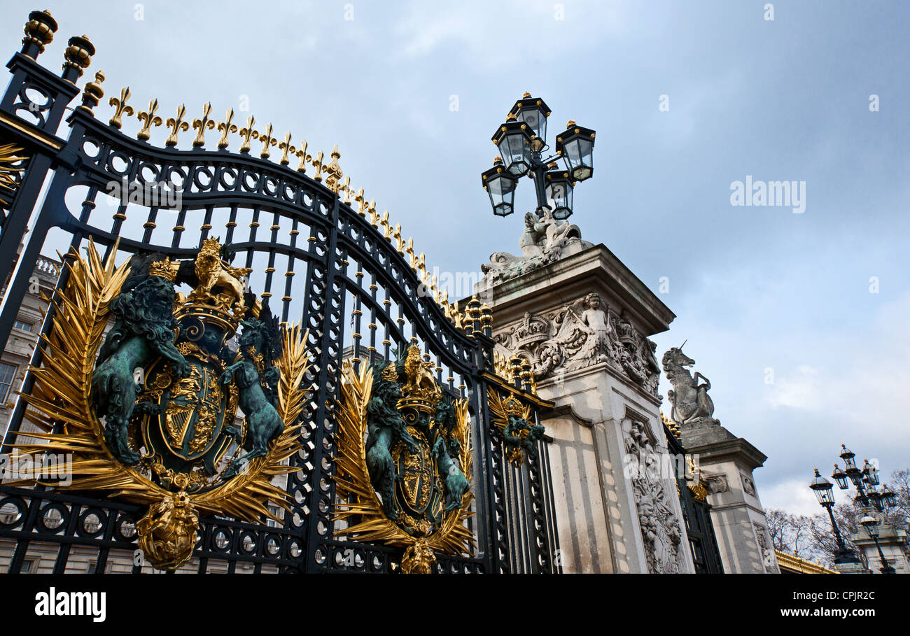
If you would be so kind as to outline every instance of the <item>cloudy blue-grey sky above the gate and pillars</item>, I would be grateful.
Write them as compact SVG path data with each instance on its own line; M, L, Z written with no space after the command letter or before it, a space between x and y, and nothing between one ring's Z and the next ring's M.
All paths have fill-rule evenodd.
M0 5L12 55L39 7ZM519 251L531 182L503 219L480 172L514 100L543 97L551 142L569 118L597 131L572 222L655 293L669 278L678 318L653 339L688 338L715 416L768 455L765 507L819 511L806 484L842 442L885 474L910 465L910 5L781 1L773 20L730 0L45 5L60 30L40 60L57 68L88 35L99 116L126 85L165 117L246 98L279 137L338 144L352 184L443 272ZM733 207L747 175L804 182L804 212Z

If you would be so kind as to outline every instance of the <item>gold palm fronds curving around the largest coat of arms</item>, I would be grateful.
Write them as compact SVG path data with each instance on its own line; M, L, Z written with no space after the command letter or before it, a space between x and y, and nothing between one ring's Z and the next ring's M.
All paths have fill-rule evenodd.
M115 257L116 244L102 263L92 242L86 249L86 257L76 251L67 255L70 276L63 291L51 300L56 318L50 332L42 336L46 346L44 365L30 369L35 386L30 394L20 394L31 407L25 410L25 417L40 430L17 433L17 438L23 440L13 444L11 459L45 453L70 454L72 480L63 485L41 480L39 476L10 485L43 483L59 490L100 490L109 498L158 508L167 508L169 501L177 501L177 506L186 508L187 504L177 499L187 496L190 511L195 508L247 521L256 521L260 516L279 521L269 512L268 503L290 510L288 494L272 480L296 470L286 460L301 448L300 425L296 422L309 390L302 386L309 360L308 332L297 325L283 332L277 367L280 372L278 414L285 422L285 429L271 442L267 454L250 461L248 469L238 477L213 489L188 495L183 490L179 493L165 490L149 479L141 465L134 468L114 459L105 444L103 425L91 408L91 377L104 338L109 305L130 271L128 260L116 268ZM35 443L35 439L42 442ZM150 509L147 517L151 513ZM191 524L187 528L196 531ZM141 544L144 537L139 539ZM164 567L174 569L182 562L185 560L167 561Z

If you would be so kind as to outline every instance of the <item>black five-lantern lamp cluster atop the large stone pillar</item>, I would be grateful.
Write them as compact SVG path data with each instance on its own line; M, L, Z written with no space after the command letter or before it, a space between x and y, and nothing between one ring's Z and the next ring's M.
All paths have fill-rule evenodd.
M556 137L556 154L543 157L547 146L547 117L550 108L530 93L511 107L506 121L492 136L500 156L481 175L483 189L490 195L493 214L507 217L512 212L518 179L534 180L537 206L549 207L553 218L571 217L572 189L593 174L594 131L569 121ZM562 159L564 167L557 163Z

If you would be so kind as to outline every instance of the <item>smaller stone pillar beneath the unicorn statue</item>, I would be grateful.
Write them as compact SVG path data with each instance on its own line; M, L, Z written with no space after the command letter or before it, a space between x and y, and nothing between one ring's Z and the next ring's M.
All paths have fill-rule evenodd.
M682 447L712 483L708 502L723 571L779 573L753 470L768 459L716 420L682 425Z

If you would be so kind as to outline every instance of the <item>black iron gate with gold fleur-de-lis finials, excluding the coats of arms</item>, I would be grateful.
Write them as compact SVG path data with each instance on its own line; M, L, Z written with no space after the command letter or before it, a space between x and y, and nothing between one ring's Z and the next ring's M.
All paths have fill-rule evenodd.
M282 525L202 519L194 551L198 571L211 571L216 562L228 572L238 564L251 564L256 572L397 569L399 549L348 540L336 528L336 399L345 359L355 366L388 360L396 349L415 344L432 361L440 386L468 399L471 417L475 514L469 524L477 544L466 556L438 555L437 570L560 570L553 558L558 543L546 441L538 442L536 457L513 466L501 429L490 416L491 397L511 394L531 409L536 421L545 403L534 394L529 369L496 358L490 315L479 304L462 313L440 296L430 284L423 255L415 256L410 240L402 239L399 227L389 226L387 215L376 213L362 190L355 195L349 177L342 180L338 152L329 161L321 152L311 156L305 142L291 146L289 134L278 144L271 125L258 131L251 116L235 123L233 110L216 122L209 105L192 122L179 106L165 122L154 99L136 114L142 123L137 138L126 136L122 118L133 113L128 88L111 100L115 113L108 124L93 114L104 95L100 72L86 84L81 105L69 106L79 95L75 82L89 66L94 46L85 37L70 38L63 74L56 76L35 61L53 39L56 22L45 12L29 18L22 51L8 65L12 79L0 102L0 153L5 158L0 165L0 208L5 213L0 279L8 280L0 343L9 337L42 248L68 243L81 250L89 241L103 246L105 256L119 241L116 256L122 261L149 248L171 258L193 257L205 239L217 236L231 244L244 267L252 268L249 287L262 290L261 298L270 299L278 317L308 328L313 358L306 379L317 389L303 413L303 447L289 459L297 469L287 476L291 512ZM72 111L66 117L68 135L61 136L58 128L66 131L66 111ZM162 123L167 141L164 147L154 146L149 138ZM196 131L192 149L180 150L178 136L194 135L186 132L190 124ZM207 150L212 139L205 138L206 132L216 126L217 133L210 135L220 135L217 150ZM229 150L238 140L238 152ZM262 145L258 156L251 152L254 144ZM272 153L279 156L278 164L269 160ZM179 203L171 210L165 201L149 203L140 197L136 204L122 196L107 208L112 184L162 197L177 192ZM66 277L64 268L58 290ZM54 316L51 306L42 334ZM43 364L44 353L39 344L32 367ZM34 374L26 374L21 391L28 394L33 384ZM25 401L18 399L4 451L25 431L25 410ZM0 548L9 552L0 551L0 568L20 571L30 546L40 545L56 550L55 572L67 571L74 549L96 550L94 568L103 572L116 555L133 554L141 508L97 500L90 492L0 486ZM133 571L140 570L136 562Z

